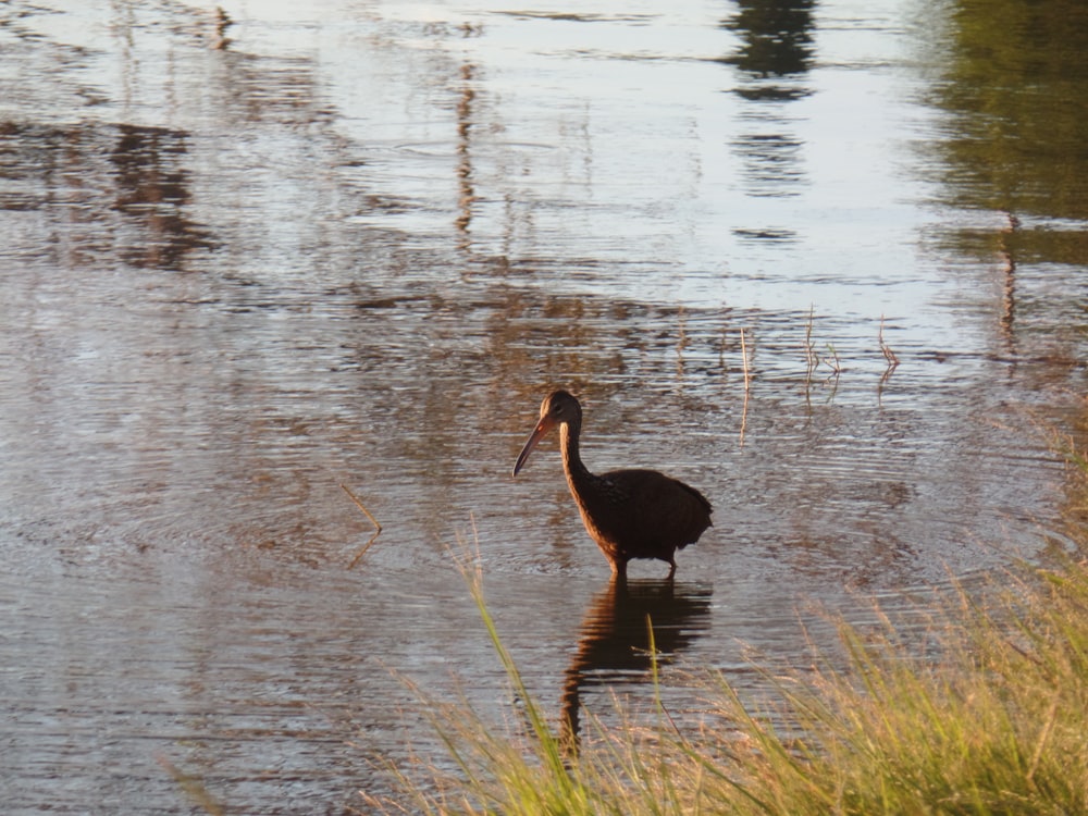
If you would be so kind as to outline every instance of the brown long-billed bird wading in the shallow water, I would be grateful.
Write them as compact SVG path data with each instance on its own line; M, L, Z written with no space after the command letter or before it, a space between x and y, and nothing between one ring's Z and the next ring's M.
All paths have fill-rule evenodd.
M595 474L582 463L578 443L582 406L566 391L554 391L541 403L540 419L514 466L517 477L529 455L553 428L559 428L559 447L567 486L582 523L625 579L632 558L657 558L677 571L676 551L698 541L710 527L713 507L702 493L656 470L613 470Z

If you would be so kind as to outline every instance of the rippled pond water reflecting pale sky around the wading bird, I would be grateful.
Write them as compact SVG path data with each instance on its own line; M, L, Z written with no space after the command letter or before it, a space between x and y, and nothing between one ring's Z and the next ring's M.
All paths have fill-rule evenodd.
M871 5L0 9L8 811L359 807L438 755L404 676L508 712L463 543L557 721L648 697L647 611L757 693L814 607L1037 554L1088 27ZM714 503L673 588L554 442L510 479L555 385Z

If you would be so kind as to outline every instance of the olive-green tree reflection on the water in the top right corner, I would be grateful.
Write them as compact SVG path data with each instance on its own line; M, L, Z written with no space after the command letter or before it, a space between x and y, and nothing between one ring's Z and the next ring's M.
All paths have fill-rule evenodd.
M960 4L935 103L941 169L957 205L1051 218L1088 217L1088 7L1065 0ZM1083 258L1083 256L1081 256Z

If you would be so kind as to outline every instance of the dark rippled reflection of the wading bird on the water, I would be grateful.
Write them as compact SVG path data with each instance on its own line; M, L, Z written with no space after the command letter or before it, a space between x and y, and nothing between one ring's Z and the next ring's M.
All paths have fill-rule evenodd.
M582 691L643 682L653 664L647 619L654 628L657 660L666 662L707 628L710 594L703 584L614 579L593 598L564 683L562 733L571 751L578 747Z

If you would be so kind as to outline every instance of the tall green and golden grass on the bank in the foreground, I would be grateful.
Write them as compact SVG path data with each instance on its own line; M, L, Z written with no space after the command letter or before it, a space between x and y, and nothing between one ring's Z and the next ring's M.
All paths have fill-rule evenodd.
M767 671L761 709L708 673L701 726L664 710L650 726L591 719L577 757L526 692L479 573L466 574L527 725L432 707L456 771L411 769L409 805L369 803L386 813L1088 813L1088 565L1076 557L1005 576L985 602L961 592L928 657L890 622L875 634L843 623L846 669Z

